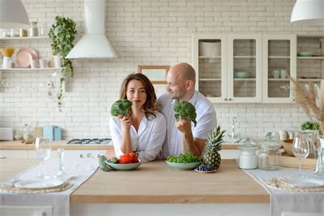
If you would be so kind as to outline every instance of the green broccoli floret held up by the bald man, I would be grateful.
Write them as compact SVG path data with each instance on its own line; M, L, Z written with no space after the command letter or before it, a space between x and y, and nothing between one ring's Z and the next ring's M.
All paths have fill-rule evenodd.
M187 101L177 101L174 104L174 111L176 111L176 121L178 122L179 117L187 118L191 120L194 126L197 124L195 118L197 117L197 113L195 113L195 107L187 102Z

